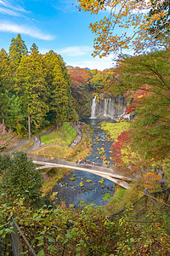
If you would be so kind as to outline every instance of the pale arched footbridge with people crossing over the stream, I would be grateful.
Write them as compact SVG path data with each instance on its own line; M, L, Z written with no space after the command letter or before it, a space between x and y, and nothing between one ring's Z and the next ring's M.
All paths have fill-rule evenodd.
M122 186L124 189L129 189L129 183L127 181L133 181L133 178L126 177L116 170L112 169L111 167L107 168L106 166L97 166L92 163L75 163L71 160L64 160L59 157L43 157L43 156L35 156L34 154L28 155L34 164L39 165L38 169L47 169L47 168L70 168L74 170L84 171L84 172L91 172L95 175L100 177L105 177L106 179L111 180L113 183L116 183Z

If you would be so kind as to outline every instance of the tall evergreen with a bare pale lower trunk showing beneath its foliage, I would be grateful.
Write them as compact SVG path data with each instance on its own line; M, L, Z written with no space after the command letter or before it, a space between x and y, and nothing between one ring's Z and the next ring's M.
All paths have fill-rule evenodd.
M28 117L29 139L31 139L31 122L39 128L48 112L42 55L36 50L33 50L31 55L21 58L16 71L15 90Z

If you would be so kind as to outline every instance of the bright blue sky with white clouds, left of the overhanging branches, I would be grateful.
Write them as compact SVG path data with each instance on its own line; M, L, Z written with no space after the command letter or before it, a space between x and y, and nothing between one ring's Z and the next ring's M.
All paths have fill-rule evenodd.
M104 14L79 12L77 0L0 0L0 49L7 52L20 33L26 46L37 44L42 54L53 49L66 65L104 70L113 67L113 56L93 58L94 34L89 24Z

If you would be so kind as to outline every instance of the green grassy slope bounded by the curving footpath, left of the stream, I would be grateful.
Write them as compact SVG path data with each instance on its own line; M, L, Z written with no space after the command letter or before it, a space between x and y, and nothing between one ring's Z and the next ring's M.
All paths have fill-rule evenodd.
M42 143L48 144L58 144L59 146L69 147L71 142L77 136L77 131L74 130L70 123L65 122L59 130L54 130L48 135L41 137Z

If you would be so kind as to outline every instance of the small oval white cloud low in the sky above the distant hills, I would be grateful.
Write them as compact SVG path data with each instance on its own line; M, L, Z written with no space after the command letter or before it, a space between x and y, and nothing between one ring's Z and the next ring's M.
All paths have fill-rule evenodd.
M60 49L60 54L65 54L66 56L82 56L82 55L89 55L92 53L93 48L88 46L72 46L72 47L66 47L65 49Z

